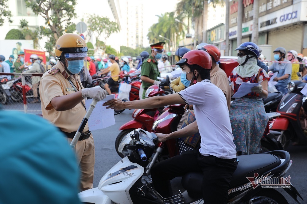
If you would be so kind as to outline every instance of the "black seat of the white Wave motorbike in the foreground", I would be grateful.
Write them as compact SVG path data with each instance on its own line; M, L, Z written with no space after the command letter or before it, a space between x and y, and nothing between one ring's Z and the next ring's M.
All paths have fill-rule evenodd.
M268 153L237 156L237 159L239 162L230 182L231 188L249 183L246 177L254 177L254 173L261 176L282 163L277 156ZM192 198L202 197L202 183L203 172L189 172L181 179L183 188Z

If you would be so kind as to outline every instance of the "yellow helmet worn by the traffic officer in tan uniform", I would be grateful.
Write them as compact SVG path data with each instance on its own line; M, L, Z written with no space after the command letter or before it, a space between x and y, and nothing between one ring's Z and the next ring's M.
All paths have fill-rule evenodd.
M84 39L72 33L67 33L59 37L56 41L56 57L60 58L62 53L84 53L87 52L87 46Z

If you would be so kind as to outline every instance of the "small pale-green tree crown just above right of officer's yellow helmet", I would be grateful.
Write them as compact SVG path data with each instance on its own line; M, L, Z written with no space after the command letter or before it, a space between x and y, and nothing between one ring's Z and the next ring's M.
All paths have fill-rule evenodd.
M93 32L96 39L99 40L100 37L103 37L104 43L111 36L111 34L119 32L118 24L114 21L110 21L110 19L107 17L101 17L96 14L88 15L85 18L85 22L88 30Z

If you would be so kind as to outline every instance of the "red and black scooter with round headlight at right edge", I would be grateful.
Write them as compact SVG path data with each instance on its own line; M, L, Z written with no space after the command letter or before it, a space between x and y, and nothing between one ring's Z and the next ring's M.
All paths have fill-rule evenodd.
M284 149L290 144L290 141L307 144L307 136L301 129L300 110L306 97L303 96L301 90L306 83L301 81L291 81L288 84L289 92L283 96L276 112L281 115L271 125L270 130L281 132L277 140L281 142Z

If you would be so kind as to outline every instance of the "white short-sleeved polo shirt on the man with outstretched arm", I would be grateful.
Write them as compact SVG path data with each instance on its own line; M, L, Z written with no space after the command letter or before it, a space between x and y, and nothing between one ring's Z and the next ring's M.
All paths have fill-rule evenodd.
M221 89L203 80L180 91L179 95L186 104L193 105L201 137L199 152L221 159L235 158L227 102Z

